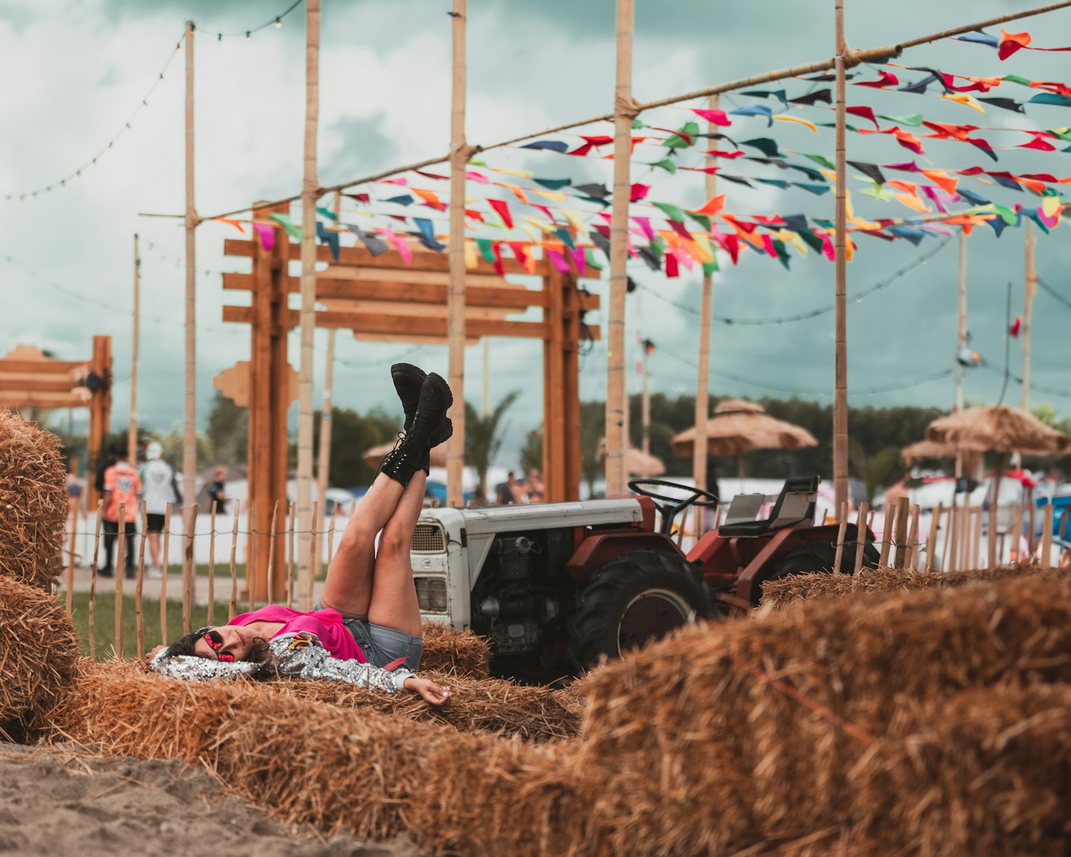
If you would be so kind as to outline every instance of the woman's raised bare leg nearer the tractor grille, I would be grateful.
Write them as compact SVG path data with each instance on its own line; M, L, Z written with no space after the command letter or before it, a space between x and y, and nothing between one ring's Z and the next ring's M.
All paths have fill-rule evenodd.
M379 537L368 621L420 636L420 604L409 556L412 531L424 506L424 472L418 472Z

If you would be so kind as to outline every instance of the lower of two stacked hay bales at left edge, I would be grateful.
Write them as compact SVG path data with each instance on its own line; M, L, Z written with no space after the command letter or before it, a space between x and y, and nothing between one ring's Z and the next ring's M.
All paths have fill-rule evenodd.
M78 634L55 596L0 576L0 736L25 740L69 687Z

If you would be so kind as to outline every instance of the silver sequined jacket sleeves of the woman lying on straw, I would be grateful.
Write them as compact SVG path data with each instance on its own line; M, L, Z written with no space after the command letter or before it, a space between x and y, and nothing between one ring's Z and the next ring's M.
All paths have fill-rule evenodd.
M412 675L408 670L388 672L369 663L341 661L332 658L312 633L282 634L268 644L272 661L268 663L235 663L176 656L164 657L161 651L152 659L151 668L168 678L186 681L208 681L211 679L235 679L240 677L266 677L277 670L280 675L297 678L318 678L327 681L345 681L361 688L376 688L387 693L397 693L405 680Z

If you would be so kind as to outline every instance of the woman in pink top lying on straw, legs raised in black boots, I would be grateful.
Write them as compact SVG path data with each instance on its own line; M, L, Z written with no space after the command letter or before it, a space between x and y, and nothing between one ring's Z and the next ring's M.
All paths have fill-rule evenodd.
M391 377L405 409L405 436L346 526L315 610L270 604L201 628L150 652L153 670L194 680L278 672L409 690L432 705L449 701L449 688L410 672L420 664L423 640L409 544L432 447L453 434L447 417L453 395L440 376L408 363L391 366Z

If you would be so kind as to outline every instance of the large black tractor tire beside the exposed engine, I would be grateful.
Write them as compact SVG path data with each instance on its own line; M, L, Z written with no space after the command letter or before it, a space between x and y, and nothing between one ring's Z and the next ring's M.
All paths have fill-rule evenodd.
M569 656L583 672L602 656L620 658L697 619L720 618L703 571L667 551L632 551L591 575L569 623Z

